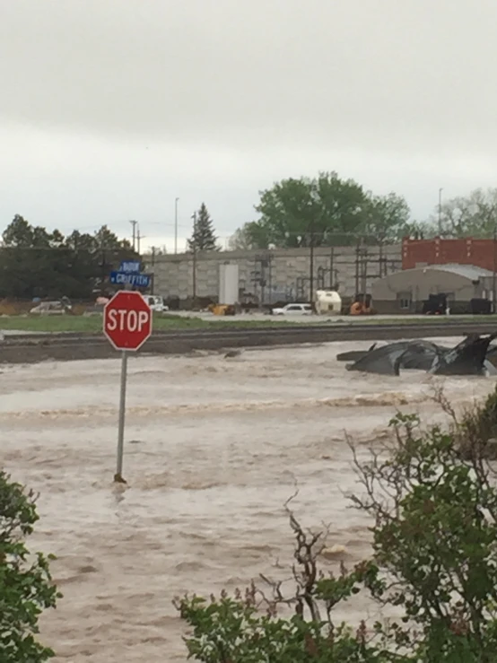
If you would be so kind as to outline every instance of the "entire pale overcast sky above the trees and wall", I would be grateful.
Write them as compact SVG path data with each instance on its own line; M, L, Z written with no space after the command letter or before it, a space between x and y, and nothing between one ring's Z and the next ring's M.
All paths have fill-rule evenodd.
M423 220L497 185L496 29L495 0L4 0L0 226L172 251L177 196L223 239L318 170Z

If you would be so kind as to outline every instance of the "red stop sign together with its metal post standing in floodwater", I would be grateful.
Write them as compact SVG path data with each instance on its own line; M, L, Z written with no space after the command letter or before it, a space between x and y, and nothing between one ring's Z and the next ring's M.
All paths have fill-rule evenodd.
M118 420L118 465L114 481L123 479L124 427L126 413L127 353L138 350L152 334L152 310L139 292L121 290L105 305L103 333L121 351L121 389Z

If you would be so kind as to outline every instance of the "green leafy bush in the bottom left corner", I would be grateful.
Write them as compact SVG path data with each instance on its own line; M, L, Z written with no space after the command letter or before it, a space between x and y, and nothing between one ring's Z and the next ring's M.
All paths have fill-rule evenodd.
M30 554L24 538L39 519L33 493L25 493L0 471L0 660L42 663L54 652L36 640L41 612L55 607L60 594L48 560Z

